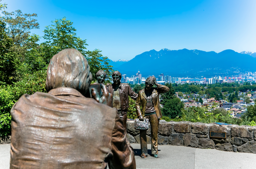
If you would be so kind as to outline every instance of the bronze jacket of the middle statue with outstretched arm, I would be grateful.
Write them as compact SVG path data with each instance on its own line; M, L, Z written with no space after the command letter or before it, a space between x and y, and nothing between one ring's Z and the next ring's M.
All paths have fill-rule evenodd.
M112 93L112 95L113 95L114 89L113 89L112 85L108 86L108 92ZM136 100L138 97L138 94L135 93L131 89L130 85L128 85L127 83L120 83L119 96L120 96L121 110L124 112L127 112L127 109L129 107L128 96L130 96L132 99Z

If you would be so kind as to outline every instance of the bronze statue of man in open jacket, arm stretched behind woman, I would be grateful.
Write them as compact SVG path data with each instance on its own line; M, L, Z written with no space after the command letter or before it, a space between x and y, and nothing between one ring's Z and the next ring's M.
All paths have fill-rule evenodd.
M121 83L121 77L122 74L119 71L113 72L113 84L108 86L108 92L113 95L113 107L118 110L126 131L127 110L129 107L128 96L136 100L138 94L135 93L127 83Z

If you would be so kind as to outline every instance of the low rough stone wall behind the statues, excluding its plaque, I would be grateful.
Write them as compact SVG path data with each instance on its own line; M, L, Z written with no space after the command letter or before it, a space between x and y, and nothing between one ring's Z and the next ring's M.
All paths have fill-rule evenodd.
M210 131L226 132L226 138L209 137ZM140 131L134 129L134 121L127 121L127 136L131 143L140 143ZM151 144L150 125L147 142ZM220 126L214 123L160 120L158 144L256 153L256 126Z

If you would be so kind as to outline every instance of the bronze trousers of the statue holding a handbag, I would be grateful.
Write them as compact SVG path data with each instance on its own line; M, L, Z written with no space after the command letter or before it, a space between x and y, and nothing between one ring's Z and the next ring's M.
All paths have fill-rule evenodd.
M159 119L156 114L145 116L144 118L148 118L148 121L151 125L151 152L152 154L158 154L158 143L157 143L157 133L158 133L158 125ZM147 130L140 130L140 148L141 148L141 156L148 155L148 147L147 147Z

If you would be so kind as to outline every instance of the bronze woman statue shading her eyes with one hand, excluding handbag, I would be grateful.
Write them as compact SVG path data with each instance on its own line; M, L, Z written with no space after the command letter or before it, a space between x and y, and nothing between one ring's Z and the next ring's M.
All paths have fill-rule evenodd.
M153 88L154 84L157 86ZM157 143L157 133L159 119L162 117L159 106L159 94L168 92L170 89L167 86L160 85L157 83L154 76L148 77L145 81L145 89L140 90L138 98L136 100L136 110L137 115L140 120L143 118L148 118L151 125L151 152L155 158L158 158L158 143ZM140 110L142 106L142 111ZM140 147L141 147L141 157L145 158L148 156L147 148L147 137L146 130L140 130Z

